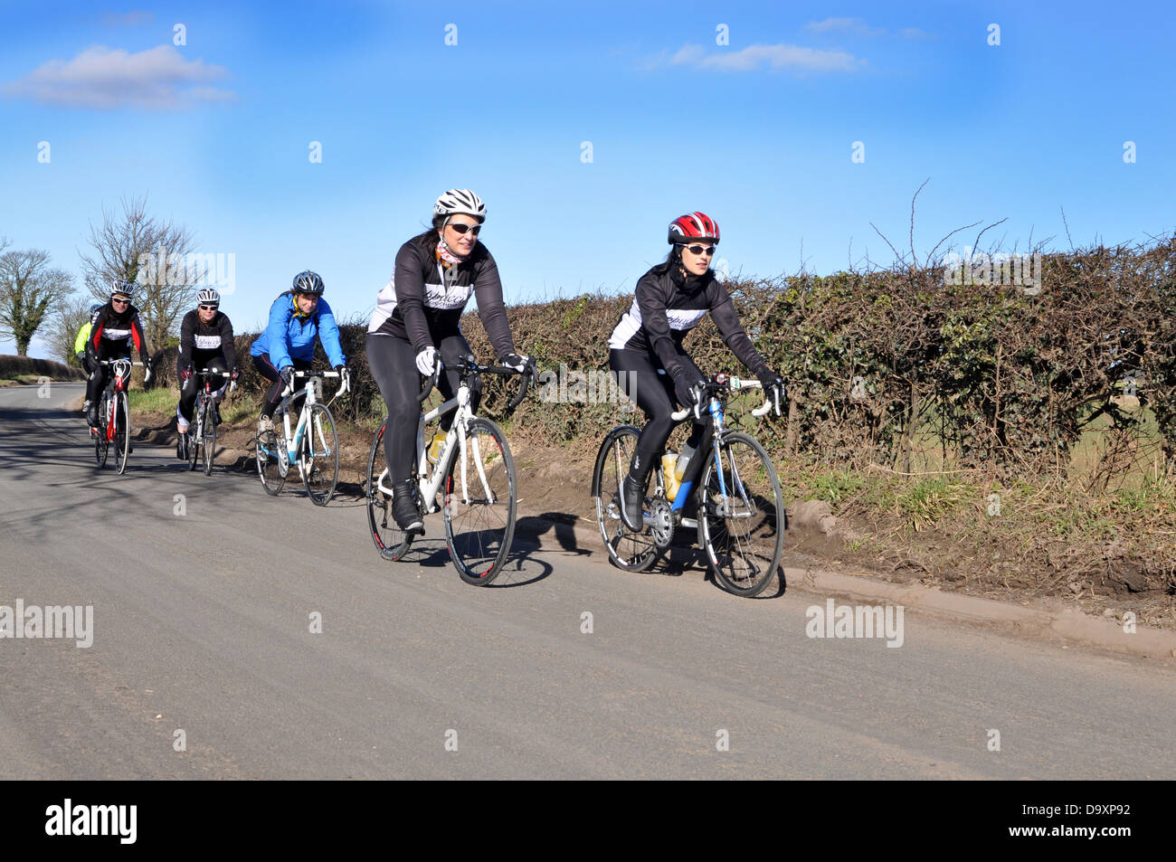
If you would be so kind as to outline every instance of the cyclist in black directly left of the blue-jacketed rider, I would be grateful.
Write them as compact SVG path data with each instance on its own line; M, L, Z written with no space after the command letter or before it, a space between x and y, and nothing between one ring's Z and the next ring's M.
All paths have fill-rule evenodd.
M236 380L236 349L233 345L233 323L228 315L220 310L220 294L211 287L196 294L196 307L183 315L180 323L180 350L175 358L175 373L180 379L180 402L175 406L175 455L181 461L188 460L188 426L192 423L192 408L196 394L203 386L196 376L196 369L207 368L212 372L232 372ZM213 396L216 421L220 421L220 399L228 382L223 377L216 381L216 394Z

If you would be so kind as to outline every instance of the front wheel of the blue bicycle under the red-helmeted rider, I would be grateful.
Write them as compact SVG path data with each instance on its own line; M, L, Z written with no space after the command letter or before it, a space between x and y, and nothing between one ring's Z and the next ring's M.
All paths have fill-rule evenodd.
M724 434L708 453L699 499L699 546L728 593L763 592L780 566L788 527L776 468L760 443L741 432Z

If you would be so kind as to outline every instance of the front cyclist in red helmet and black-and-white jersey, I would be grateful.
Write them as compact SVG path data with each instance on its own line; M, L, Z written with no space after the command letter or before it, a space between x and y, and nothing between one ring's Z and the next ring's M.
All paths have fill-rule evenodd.
M682 339L708 312L727 347L760 379L764 394L771 396L775 389L784 397L784 381L751 345L735 305L710 268L719 225L703 213L688 213L669 223L669 243L666 260L637 281L633 305L608 340L609 368L619 373L627 394L648 417L620 494L621 517L634 532L642 528L649 469L674 428L674 402L693 407L701 397L697 387L706 383L706 376L682 348ZM709 415L695 421L688 447L699 447L709 421Z

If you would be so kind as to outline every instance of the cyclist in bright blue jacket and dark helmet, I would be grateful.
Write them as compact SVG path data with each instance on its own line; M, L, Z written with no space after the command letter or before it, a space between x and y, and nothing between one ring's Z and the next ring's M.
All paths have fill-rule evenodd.
M325 289L318 273L305 269L295 275L293 288L280 294L269 307L269 323L249 348L253 365L272 383L261 403L258 434L274 429L274 410L293 373L309 370L315 336L336 372L347 366L335 315L322 299Z

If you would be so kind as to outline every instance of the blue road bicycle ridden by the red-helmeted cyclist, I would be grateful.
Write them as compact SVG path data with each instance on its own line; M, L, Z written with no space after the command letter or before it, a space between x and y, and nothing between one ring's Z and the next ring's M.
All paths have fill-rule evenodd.
M681 422L691 414L699 419L707 410L711 422L673 499L667 499L666 473L660 466L663 459L657 459L649 472L652 487L646 488L642 529L636 533L621 519L620 493L641 430L623 425L604 436L596 454L592 494L614 566L644 572L670 547L677 528L693 527L697 528L707 567L723 589L750 597L768 586L780 566L788 526L780 480L771 459L754 437L723 427L727 400L750 388L762 387L759 380L716 374L700 386L701 396L693 408L671 414ZM762 416L773 407L780 415L779 393L751 414ZM688 517L691 512L694 517Z

